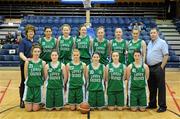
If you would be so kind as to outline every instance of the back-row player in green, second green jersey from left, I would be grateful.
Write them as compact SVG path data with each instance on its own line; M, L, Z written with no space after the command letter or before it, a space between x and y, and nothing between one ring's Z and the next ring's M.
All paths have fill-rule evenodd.
M59 60L66 65L72 60L71 55L74 47L74 39L70 36L70 25L62 25L61 30L63 35L58 38Z

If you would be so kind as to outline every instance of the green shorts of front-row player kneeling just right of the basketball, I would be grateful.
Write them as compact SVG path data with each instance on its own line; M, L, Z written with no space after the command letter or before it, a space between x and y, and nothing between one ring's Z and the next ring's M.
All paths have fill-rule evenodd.
M105 106L104 91L87 91L87 101L91 108L101 108Z

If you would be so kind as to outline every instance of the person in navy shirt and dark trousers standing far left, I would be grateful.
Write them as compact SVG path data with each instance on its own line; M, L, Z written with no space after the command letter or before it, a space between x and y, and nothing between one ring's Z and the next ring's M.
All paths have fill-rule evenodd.
M19 57L20 57L20 69L21 69L21 83L19 87L20 94L20 108L24 108L23 94L24 94L24 62L29 60L31 57L31 48L33 43L38 43L37 40L33 39L35 35L35 27L27 25L25 27L26 37L19 44Z

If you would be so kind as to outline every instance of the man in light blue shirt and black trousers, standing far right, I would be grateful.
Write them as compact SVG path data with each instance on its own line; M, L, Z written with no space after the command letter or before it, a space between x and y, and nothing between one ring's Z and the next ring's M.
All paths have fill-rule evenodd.
M148 86L150 91L149 109L157 108L156 95L158 89L157 112L166 111L166 87L165 87L165 65L168 60L168 44L159 38L156 28L150 31L151 41L147 47L147 64L150 68Z

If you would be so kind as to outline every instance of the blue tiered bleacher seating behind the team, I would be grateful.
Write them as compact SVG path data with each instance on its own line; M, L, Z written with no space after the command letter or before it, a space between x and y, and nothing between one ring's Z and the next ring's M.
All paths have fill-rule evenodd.
M146 29L140 34L140 39L145 40L146 43L150 41L149 31L151 27L156 26L155 20L149 17L91 17L92 28L95 31L98 26L104 26L106 30L106 38L111 40L114 37L114 29L121 27L123 29L123 38L131 40L131 31L128 26L132 22L143 22ZM81 24L85 23L85 17L59 17L59 16L25 16L19 27L22 34L25 35L24 27L27 24L32 24L36 28L35 38L38 39L43 35L45 26L51 26L53 29L53 36L58 37L61 35L60 27L62 24L68 23L71 25L71 35L78 35L78 28ZM160 33L160 37L164 36ZM169 63L167 67L177 68L180 67L179 56L169 46ZM17 44L4 44L0 50L0 66L18 66L18 45Z

